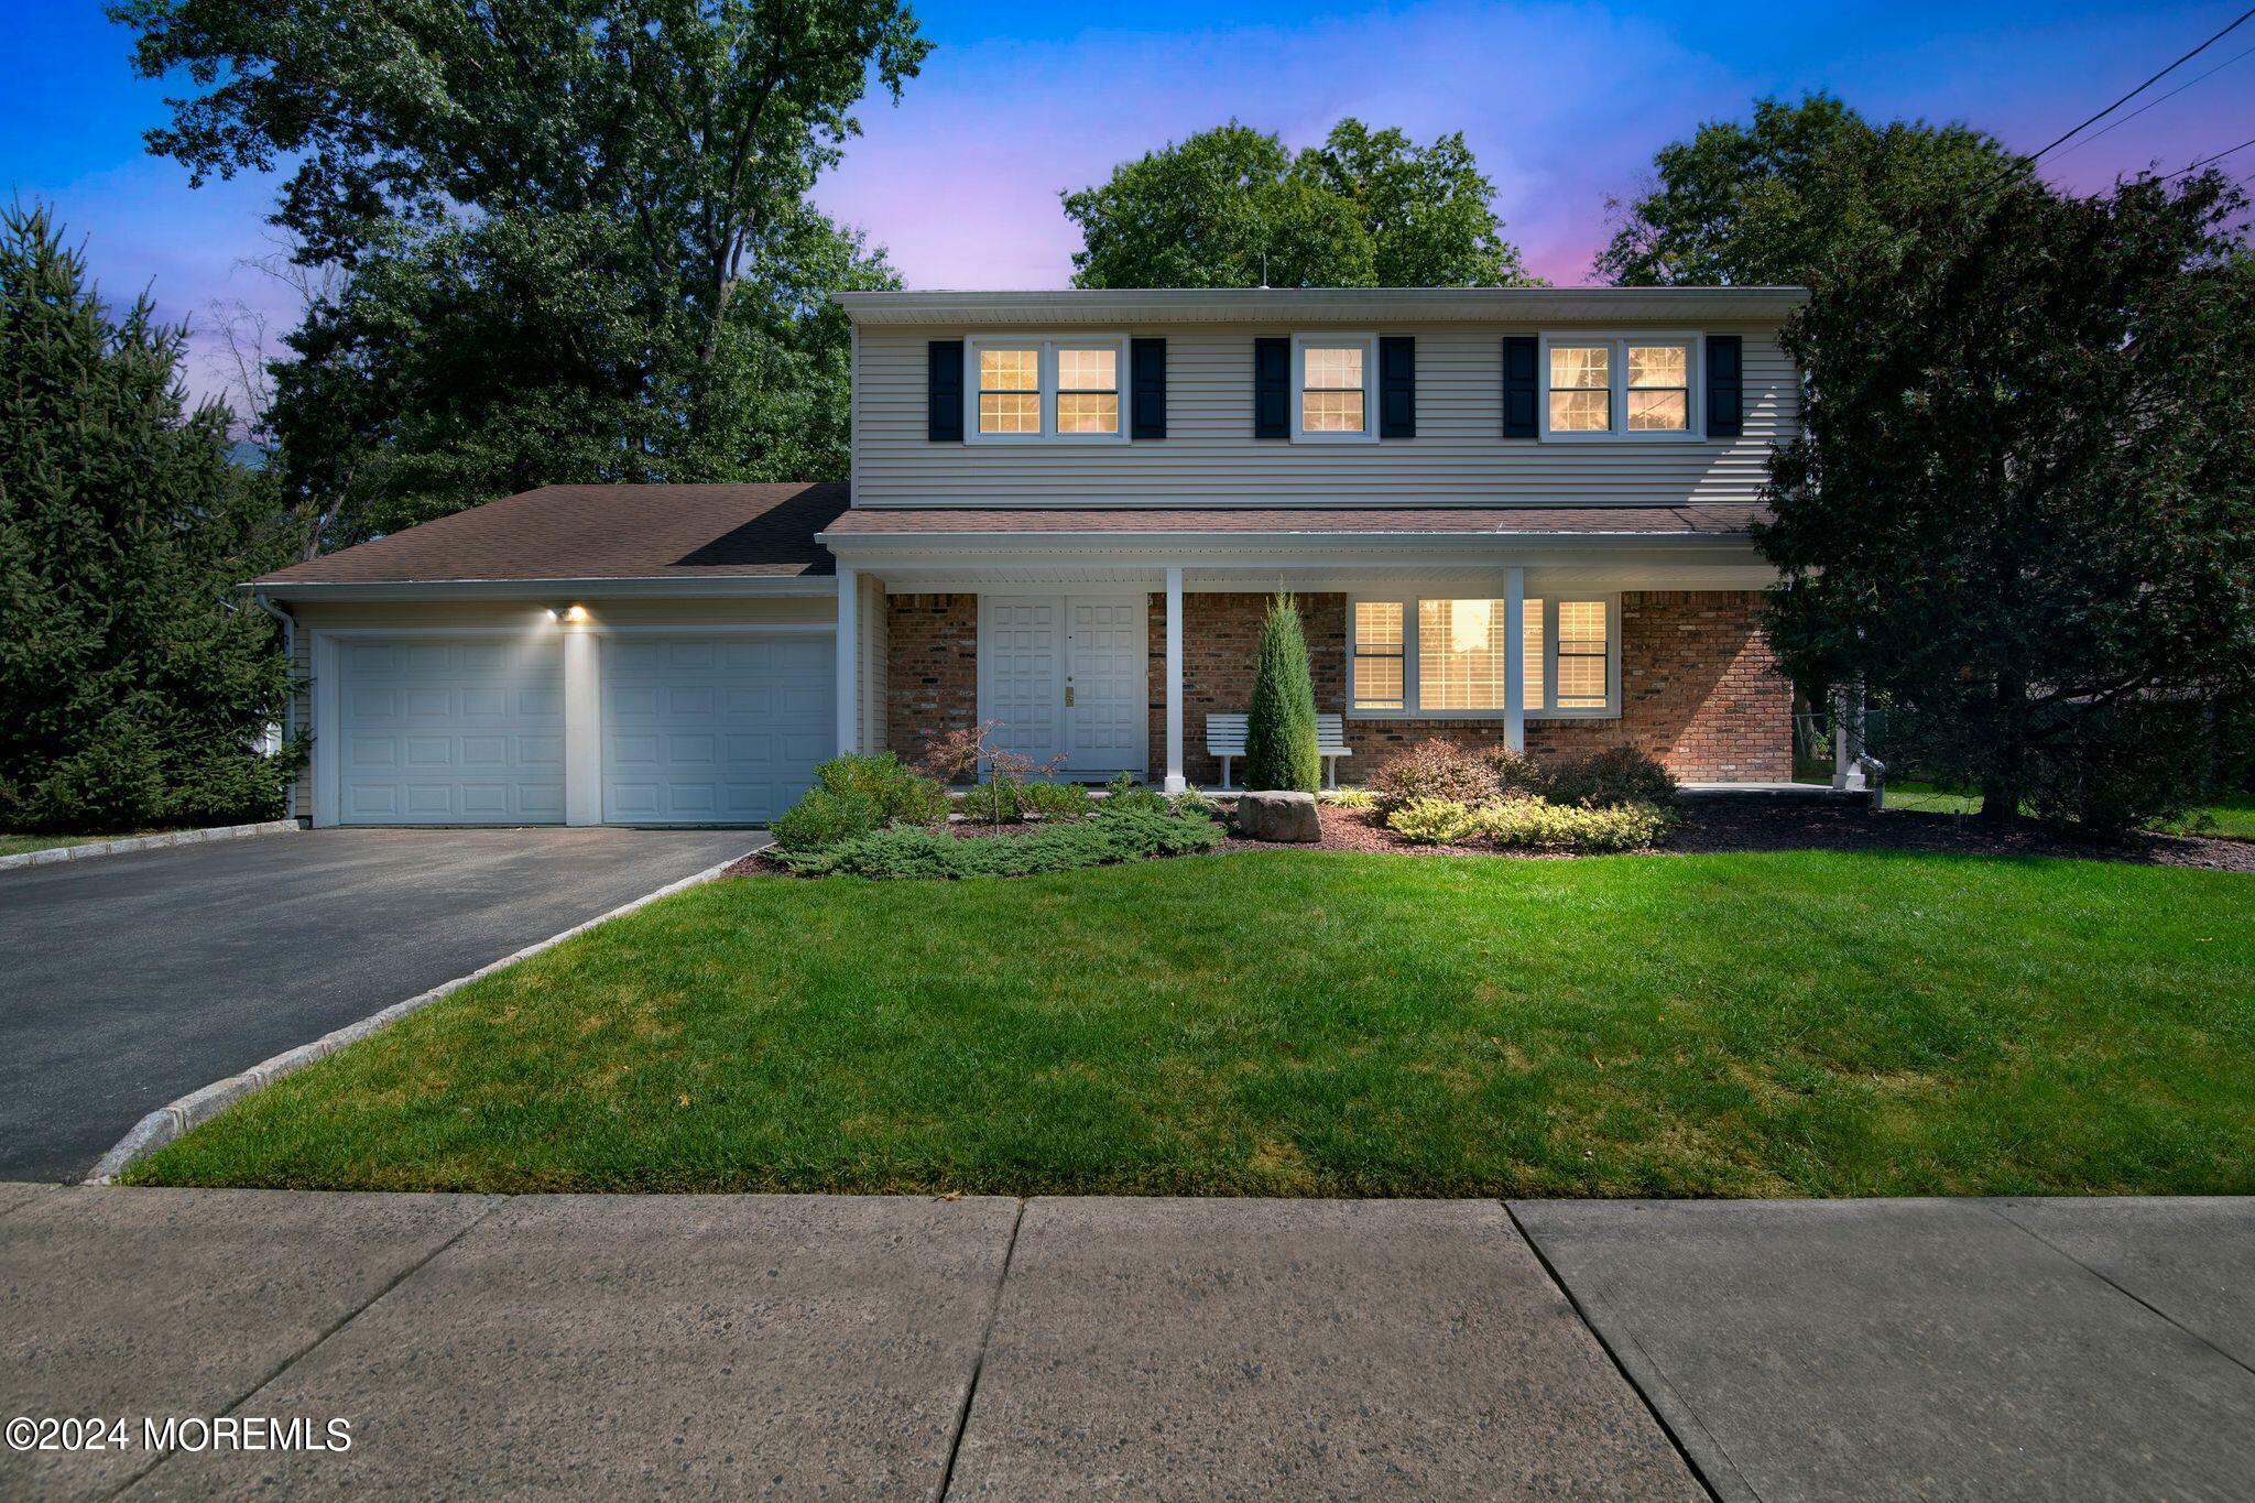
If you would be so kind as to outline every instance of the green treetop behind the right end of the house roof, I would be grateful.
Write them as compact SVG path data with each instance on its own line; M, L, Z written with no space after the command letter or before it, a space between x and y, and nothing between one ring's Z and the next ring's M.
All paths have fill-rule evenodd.
M1757 99L1752 124L1700 126L1653 158L1657 183L1612 201L1597 275L1619 286L1802 284L1854 248L1901 243L2014 158L1969 126L1874 126L1831 95Z

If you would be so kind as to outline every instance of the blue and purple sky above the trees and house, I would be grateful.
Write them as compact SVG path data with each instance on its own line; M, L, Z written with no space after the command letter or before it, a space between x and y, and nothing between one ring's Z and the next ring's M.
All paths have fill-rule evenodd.
M1583 282L1606 198L1653 151L1757 95L1831 90L1872 117L1964 119L2034 151L2226 25L2208 5L1017 5L927 0L936 43L900 106L816 192L891 250L909 286L1064 286L1073 225L1058 194L1231 115L1288 144L1342 115L1418 140L1463 131L1527 264ZM83 237L113 297L151 288L205 322L244 300L275 322L293 300L241 266L268 252L275 180L187 187L147 155L165 83L126 63L131 36L95 0L16 0L0 18L0 187ZM2090 144L2045 158L2061 185L2169 169L2255 135L2255 23L2160 83L2214 77ZM174 81L171 92L185 83ZM2135 108L2135 104L2131 108ZM2255 149L2226 162L2255 171ZM2239 171L2246 176L2246 171ZM210 336L198 361L212 358ZM198 367L205 390L221 383Z

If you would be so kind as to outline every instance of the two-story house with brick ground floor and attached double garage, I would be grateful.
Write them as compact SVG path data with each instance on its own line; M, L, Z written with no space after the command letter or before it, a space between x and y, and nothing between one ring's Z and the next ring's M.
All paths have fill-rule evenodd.
M329 822L762 822L999 723L1209 784L1265 602L1353 771L1790 775L1748 527L1799 288L841 293L848 484L546 487L255 581Z

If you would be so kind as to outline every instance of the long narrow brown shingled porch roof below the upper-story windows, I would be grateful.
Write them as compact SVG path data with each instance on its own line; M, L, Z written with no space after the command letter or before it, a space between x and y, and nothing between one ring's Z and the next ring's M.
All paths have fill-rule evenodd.
M832 536L958 532L1459 532L1734 536L1768 518L1759 503L1682 507L859 507Z

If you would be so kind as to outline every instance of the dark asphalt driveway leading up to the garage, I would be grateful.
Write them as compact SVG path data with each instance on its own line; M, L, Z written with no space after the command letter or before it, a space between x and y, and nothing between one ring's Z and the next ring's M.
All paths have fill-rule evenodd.
M0 1179L764 845L749 829L316 829L0 872Z

